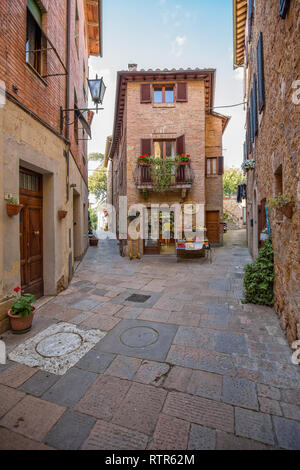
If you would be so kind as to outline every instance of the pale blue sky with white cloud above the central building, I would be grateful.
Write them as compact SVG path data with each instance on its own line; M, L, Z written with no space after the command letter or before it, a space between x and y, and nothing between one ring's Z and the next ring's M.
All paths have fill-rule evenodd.
M243 101L243 69L233 70L232 0L104 0L103 58L92 57L107 86L103 111L94 116L89 153L104 153L113 133L116 74L129 63L138 69L215 68L215 106ZM227 168L243 160L243 106L216 109L231 116L223 139ZM91 168L94 168L92 164Z

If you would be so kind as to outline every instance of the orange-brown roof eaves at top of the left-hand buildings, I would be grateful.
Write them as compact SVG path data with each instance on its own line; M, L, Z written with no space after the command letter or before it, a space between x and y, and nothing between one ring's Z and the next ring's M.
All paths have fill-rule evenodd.
M89 56L103 55L102 0L85 0L85 16Z

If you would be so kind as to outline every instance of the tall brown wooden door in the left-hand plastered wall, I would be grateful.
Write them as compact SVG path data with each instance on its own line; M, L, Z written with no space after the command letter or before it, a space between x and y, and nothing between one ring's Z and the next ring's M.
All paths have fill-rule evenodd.
M42 176L20 169L21 287L37 298L44 294Z

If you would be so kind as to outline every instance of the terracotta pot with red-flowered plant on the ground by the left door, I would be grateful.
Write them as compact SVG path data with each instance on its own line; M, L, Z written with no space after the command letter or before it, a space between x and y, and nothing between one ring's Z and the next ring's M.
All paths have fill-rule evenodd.
M31 329L36 311L36 308L32 305L36 302L35 296L32 294L18 296L20 290L21 287L15 287L14 291L17 294L17 298L7 313L11 329L15 334L27 333Z

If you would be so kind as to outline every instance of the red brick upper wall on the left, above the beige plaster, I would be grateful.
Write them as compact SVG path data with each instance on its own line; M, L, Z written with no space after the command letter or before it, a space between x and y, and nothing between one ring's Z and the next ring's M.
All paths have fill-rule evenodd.
M66 65L66 28L67 28L67 0L39 2L44 5L42 14L42 27L50 41L53 43L61 60ZM60 106L66 107L66 76L48 77L42 79L26 63L26 4L27 0L14 2L2 0L0 2L0 80L6 84L9 93L19 102L46 121L56 132L60 131ZM75 45L75 13L76 0L71 1L71 65L70 65L70 103L74 107L74 89L78 98L78 107L85 107L86 100L83 93L84 80L88 75L88 54L85 38L84 0L77 0L79 12L79 53ZM47 47L50 44L47 43ZM4 52L4 53L3 53ZM47 51L46 74L64 73L53 50ZM18 93L13 91L13 85ZM70 122L74 121L70 113ZM81 127L79 123L79 127ZM81 132L79 132L81 138ZM74 126L70 126L71 151L84 178L87 176L87 166L84 165L83 156L87 154L86 143L74 139Z

